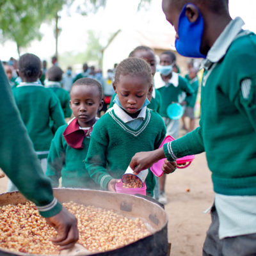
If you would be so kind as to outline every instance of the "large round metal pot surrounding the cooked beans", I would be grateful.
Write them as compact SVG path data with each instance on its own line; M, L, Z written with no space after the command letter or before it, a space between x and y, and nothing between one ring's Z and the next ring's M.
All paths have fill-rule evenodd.
M94 205L105 209L113 209L129 218L140 218L152 233L139 241L122 248L102 253L92 253L95 256L166 256L168 252L167 222L168 217L163 208L146 198L138 196L96 191L88 189L54 189L54 195L62 202L76 202L83 205ZM19 192L0 195L0 205L24 204L26 198ZM20 252L10 252L0 248L0 255L31 255ZM35 254L34 254L35 255Z

